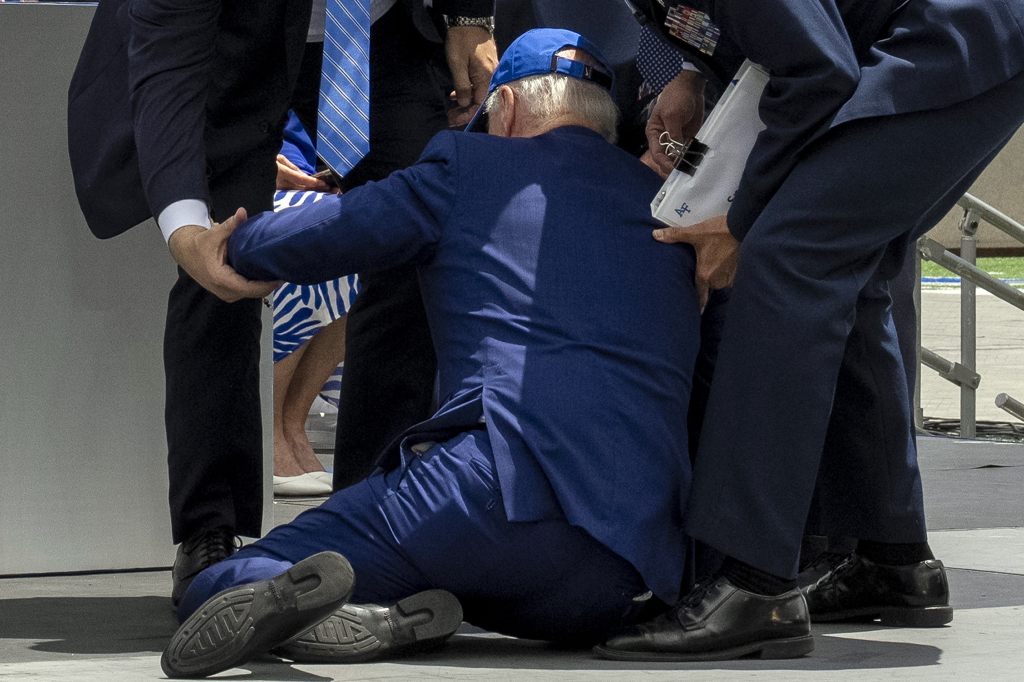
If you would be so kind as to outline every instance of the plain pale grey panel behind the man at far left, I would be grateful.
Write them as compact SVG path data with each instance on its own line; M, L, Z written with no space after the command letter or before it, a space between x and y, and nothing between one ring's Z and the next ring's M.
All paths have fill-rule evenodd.
M0 4L0 574L173 559L162 336L174 266L153 224L93 238L68 162L68 83L92 11Z

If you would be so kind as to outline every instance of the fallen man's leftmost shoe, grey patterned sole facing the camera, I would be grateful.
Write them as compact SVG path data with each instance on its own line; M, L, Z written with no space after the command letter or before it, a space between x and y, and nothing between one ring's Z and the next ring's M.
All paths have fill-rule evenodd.
M160 658L168 677L206 677L249 660L316 625L352 594L340 554L321 552L267 581L210 597L181 624Z

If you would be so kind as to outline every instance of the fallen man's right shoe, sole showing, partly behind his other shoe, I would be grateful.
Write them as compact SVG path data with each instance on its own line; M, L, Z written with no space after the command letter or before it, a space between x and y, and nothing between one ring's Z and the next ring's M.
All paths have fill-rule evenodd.
M273 653L302 663L362 663L427 651L462 625L451 592L427 590L393 604L345 604Z

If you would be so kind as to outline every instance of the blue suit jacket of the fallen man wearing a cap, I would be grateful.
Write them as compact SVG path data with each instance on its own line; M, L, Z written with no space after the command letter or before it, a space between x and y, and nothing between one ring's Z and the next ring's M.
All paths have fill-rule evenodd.
M418 263L441 400L400 452L485 428L510 520L567 518L671 602L698 313L692 251L650 235L659 185L585 128L443 132L381 182L248 221L229 259L297 283Z

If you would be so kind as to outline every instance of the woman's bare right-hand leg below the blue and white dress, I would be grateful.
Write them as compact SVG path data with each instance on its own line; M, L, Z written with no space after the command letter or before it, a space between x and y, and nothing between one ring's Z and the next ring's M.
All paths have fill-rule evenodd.
M283 436L301 469L289 475L324 470L306 436L306 417L313 398L345 358L345 317L328 325L302 348L305 352L293 371L282 406Z

